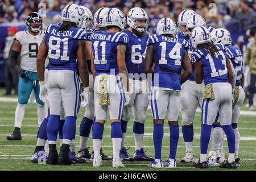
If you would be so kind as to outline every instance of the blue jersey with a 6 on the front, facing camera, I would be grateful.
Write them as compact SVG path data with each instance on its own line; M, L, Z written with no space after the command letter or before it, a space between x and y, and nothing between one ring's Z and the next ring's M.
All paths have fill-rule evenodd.
M135 73L145 73L146 44L149 38L148 32L143 38L138 38L128 29L123 30L129 36L129 43L126 44L125 63L130 78Z

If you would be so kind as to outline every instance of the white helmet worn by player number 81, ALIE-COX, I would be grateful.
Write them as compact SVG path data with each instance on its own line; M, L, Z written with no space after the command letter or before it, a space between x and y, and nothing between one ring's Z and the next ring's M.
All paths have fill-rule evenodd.
M77 27L81 28L82 15L84 15L84 10L82 10L79 5L69 4L64 7L61 19L63 21L76 23Z

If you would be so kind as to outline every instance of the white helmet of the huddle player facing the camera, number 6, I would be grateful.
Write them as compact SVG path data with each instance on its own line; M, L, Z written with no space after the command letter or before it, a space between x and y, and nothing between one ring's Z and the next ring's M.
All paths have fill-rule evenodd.
M144 26L137 24L137 20L145 20ZM139 32L144 32L148 27L148 16L145 10L140 7L134 7L127 13L127 24Z

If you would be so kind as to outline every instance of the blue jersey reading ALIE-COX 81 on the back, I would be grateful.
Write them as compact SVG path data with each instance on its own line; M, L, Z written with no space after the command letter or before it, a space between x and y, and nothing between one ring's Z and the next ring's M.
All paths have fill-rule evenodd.
M46 44L51 69L69 69L77 72L77 48L79 40L86 40L86 32L81 28L71 27L67 31L58 31L60 24L46 27Z

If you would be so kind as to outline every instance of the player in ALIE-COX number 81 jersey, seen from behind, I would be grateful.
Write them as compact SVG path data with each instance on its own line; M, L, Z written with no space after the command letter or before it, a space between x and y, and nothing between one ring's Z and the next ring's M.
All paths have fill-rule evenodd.
M76 119L80 107L80 94L87 105L89 94L88 65L85 60L86 32L82 30L83 13L80 6L69 4L64 7L61 25L50 24L40 45L38 54L38 73L40 98L49 101L49 121L47 137L49 140L48 164L71 165L69 146L76 133ZM44 82L44 62L49 57L47 86ZM78 75L79 73L79 75ZM79 76L84 91L81 92ZM47 93L48 92L48 93ZM57 131L61 115L61 105L65 110L63 142L60 155L56 149Z

